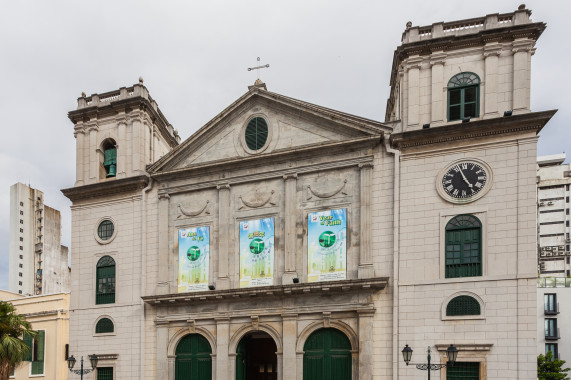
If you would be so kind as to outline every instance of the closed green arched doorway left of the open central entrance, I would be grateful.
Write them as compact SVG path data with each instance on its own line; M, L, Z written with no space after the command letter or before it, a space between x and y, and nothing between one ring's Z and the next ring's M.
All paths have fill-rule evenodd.
M206 338L186 335L176 346L175 380L212 380L211 354Z

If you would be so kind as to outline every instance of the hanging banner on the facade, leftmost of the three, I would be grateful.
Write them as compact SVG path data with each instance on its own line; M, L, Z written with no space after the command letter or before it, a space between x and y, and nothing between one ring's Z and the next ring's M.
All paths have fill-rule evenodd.
M209 262L210 227L179 230L178 292L208 290Z

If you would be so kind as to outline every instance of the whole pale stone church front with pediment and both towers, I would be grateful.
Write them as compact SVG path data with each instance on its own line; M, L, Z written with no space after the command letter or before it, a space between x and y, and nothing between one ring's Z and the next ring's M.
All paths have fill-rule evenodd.
M407 24L383 122L257 81L181 143L142 80L79 98L70 354L93 379L413 379L405 345L453 344L432 376L535 379L555 111L530 110L530 15Z

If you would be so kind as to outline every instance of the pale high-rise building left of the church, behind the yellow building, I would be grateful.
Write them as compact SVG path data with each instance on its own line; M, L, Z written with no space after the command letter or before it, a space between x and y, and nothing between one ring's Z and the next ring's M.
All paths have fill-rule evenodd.
M10 187L9 289L22 295L69 291L68 247L61 214L44 194L22 183Z

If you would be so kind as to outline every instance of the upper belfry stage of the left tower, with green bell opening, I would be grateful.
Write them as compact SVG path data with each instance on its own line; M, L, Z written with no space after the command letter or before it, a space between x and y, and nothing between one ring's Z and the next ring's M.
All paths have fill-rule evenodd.
M180 143L143 78L128 88L82 93L68 117L76 138L76 187L142 175Z

